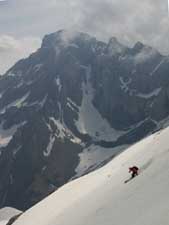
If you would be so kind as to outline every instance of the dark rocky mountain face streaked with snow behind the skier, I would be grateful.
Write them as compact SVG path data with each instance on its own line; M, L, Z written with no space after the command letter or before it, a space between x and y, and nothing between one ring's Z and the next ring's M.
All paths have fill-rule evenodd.
M58 31L0 79L0 202L26 209L159 129L169 58Z

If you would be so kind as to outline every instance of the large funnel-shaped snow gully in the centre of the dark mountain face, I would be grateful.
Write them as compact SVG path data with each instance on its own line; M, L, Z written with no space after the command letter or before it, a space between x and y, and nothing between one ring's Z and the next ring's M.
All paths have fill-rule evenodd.
M94 90L89 80L91 68L82 67L86 69L87 82L82 85L83 100L79 107L78 120L75 121L76 127L82 134L89 134L95 140L116 141L125 132L113 129L94 107Z

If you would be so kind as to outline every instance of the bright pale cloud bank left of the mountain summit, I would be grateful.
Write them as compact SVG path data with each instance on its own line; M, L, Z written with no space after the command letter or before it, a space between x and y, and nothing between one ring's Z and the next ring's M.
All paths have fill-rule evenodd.
M26 37L16 39L12 36L0 36L0 74L5 73L18 60L27 57L40 46L39 38Z

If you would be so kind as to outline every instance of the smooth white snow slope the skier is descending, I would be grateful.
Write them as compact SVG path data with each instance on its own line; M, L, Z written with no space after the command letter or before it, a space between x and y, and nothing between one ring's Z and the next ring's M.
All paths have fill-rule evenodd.
M138 165L141 173L124 184L131 165ZM169 128L133 145L101 169L66 184L14 224L169 224Z

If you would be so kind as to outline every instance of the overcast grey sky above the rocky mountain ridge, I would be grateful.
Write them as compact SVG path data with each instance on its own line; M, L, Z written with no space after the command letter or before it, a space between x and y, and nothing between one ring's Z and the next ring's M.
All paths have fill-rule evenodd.
M167 0L0 0L0 74L60 29L141 41L169 54Z

